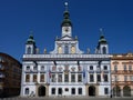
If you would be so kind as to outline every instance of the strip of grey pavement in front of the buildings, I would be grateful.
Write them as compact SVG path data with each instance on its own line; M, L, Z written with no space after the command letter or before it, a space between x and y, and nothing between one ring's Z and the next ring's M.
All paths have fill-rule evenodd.
M44 98L22 98L22 97L14 97L14 98L0 98L0 100L133 100L131 98L96 98L96 97L44 97Z

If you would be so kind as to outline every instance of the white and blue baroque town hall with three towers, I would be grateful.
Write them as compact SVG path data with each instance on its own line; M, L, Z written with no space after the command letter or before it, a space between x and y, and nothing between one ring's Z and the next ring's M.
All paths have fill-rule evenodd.
M68 3L65 8L61 38L55 39L53 51L47 52L44 49L44 53L39 53L33 36L25 43L22 57L22 97L111 94L111 59L103 33L95 53L81 51L78 38L72 37Z

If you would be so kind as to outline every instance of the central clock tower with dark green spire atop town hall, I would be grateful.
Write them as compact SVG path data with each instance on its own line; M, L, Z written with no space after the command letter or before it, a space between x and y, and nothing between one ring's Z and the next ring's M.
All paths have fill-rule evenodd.
M69 19L70 13L68 11L68 2L65 2L64 6L65 6L65 11L63 13L64 19L63 19L62 24L61 24L62 37L65 37L65 36L72 37L72 23L71 23L71 20Z

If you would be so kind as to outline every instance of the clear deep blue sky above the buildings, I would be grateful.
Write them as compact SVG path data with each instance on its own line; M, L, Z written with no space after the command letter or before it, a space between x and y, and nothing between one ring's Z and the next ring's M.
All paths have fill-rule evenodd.
M110 53L133 52L133 0L0 0L0 52L21 61L30 31L41 53L52 51L65 1L81 50L93 53L103 28Z

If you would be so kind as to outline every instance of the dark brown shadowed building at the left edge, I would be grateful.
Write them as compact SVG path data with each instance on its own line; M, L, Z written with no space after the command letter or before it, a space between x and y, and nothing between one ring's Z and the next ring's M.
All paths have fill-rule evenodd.
M7 53L0 52L0 97L20 94L22 64Z

